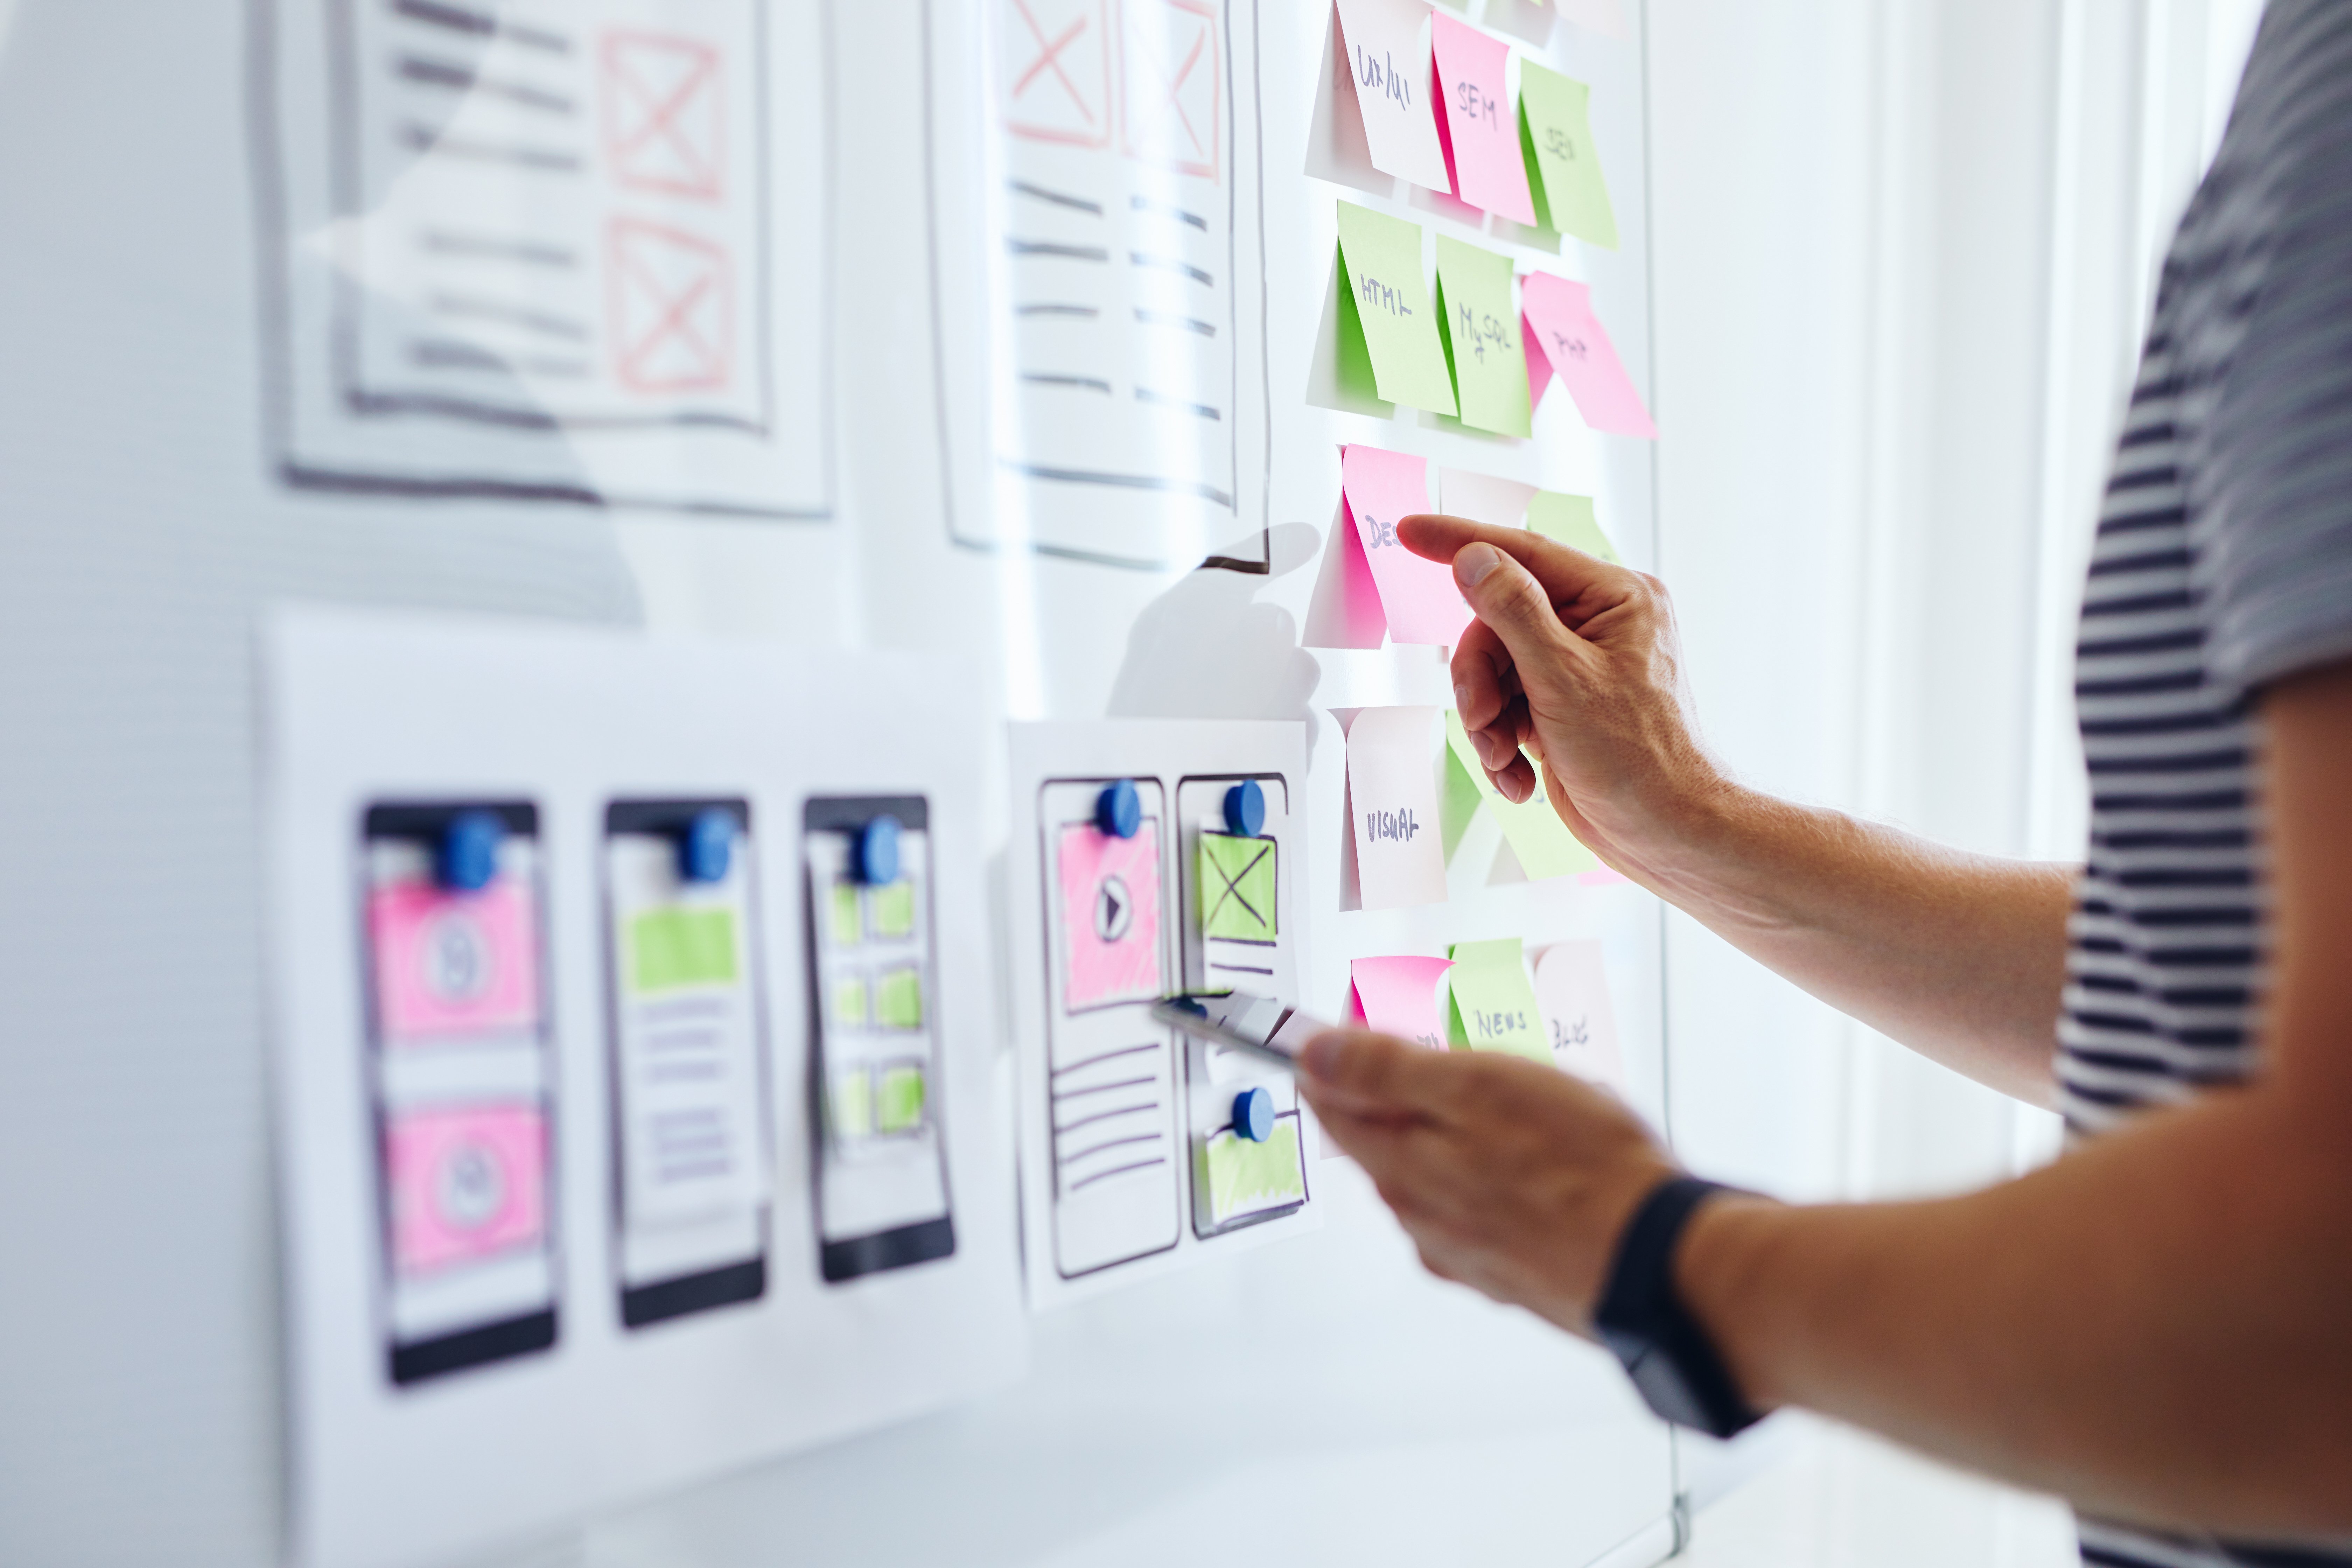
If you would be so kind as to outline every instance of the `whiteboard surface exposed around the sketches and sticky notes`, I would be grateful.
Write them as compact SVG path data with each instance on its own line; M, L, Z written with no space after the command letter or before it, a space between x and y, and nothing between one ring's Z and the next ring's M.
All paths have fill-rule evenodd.
M1524 444L1308 402L1336 202L1439 219L1395 188L1303 174L1329 12L1237 0L1225 14L1251 9L1235 82L1256 120L1244 219L1258 228L1263 367L1237 400L1258 400L1263 435L1237 458L1237 475L1256 463L1256 489L1237 480L1232 527L1207 543L1263 571L1190 571L1178 557L1080 559L1000 527L985 313L1002 235L978 134L978 0L826 7L804 45L816 61L788 73L793 108L823 113L835 223L807 284L823 292L830 425L800 428L818 430L816 491L783 520L597 508L579 482L285 484L256 127L275 9L212 0L129 24L21 0L0 54L0 719L19 757L0 783L16 891L0 943L0 1185L47 1197L0 1213L0 1556L282 1554L294 1439L254 710L256 630L282 599L941 651L978 668L990 719L1301 722L1303 1004L1338 1013L1355 954L1595 938L1632 1095L1663 1110L1646 896L1489 886L1489 837L1484 863L1475 844L1456 856L1449 905L1341 910L1331 710L1444 705L1449 684L1430 649L1301 646L1336 444L1590 494L1637 567L1656 562L1651 463L1583 433L1557 395ZM1468 14L1595 85L1623 249L1517 254L1592 282L1646 390L1639 28L1611 40L1526 0ZM1002 844L1002 741L971 788ZM24 1044L42 1039L75 1048ZM997 1072L1009 1103L1002 1051ZM1296 1561L1661 1559L1672 1443L1616 1366L1428 1279L1352 1166L1322 1161L1315 1178L1322 1225L1308 1234L1035 1314L1030 1373L1002 1394L475 1561L1150 1563L1197 1559L1237 1528Z

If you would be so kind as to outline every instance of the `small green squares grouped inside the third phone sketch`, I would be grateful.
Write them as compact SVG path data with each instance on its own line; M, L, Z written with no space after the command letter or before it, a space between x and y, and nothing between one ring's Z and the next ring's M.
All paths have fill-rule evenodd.
M835 952L880 947L880 964L835 971L826 1011L842 1030L920 1032L924 1025L922 964L891 959L896 943L915 936L915 879L882 886L837 879L826 893L826 940ZM856 1063L830 1074L835 1138L906 1138L924 1126L929 1077L924 1060Z

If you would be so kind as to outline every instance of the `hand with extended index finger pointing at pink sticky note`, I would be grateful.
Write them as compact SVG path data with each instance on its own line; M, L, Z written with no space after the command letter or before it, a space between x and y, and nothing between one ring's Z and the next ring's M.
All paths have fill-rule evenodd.
M1529 529L1406 517L1397 538L1451 562L1477 614L1454 649L1454 705L1486 776L1524 802L1541 766L1569 830L1656 886L1656 856L1722 785L1665 585Z

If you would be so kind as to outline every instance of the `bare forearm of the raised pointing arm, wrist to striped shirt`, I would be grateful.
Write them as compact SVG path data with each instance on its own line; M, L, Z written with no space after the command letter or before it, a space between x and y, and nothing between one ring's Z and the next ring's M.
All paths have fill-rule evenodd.
M1738 785L1635 858L1661 898L1830 1006L2004 1093L2051 1098L2072 867Z

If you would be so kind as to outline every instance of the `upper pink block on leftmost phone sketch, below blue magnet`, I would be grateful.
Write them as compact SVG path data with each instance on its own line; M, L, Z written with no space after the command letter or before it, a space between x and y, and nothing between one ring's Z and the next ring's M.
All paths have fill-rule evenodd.
M480 893L430 882L381 886L367 900L376 1009L386 1039L437 1039L539 1027L539 917L524 882Z

